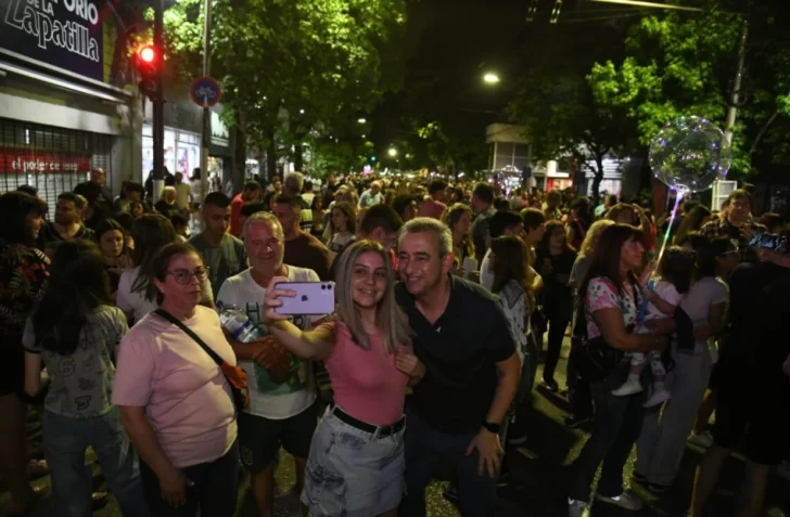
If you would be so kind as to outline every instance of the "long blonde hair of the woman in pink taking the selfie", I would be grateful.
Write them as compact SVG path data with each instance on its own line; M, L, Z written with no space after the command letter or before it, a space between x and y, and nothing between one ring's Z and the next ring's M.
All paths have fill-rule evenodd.
M400 345L411 342L411 328L406 314L395 301L395 277L390 263L390 255L384 247L374 241L358 241L346 248L340 257L335 273L335 296L337 297L337 320L343 322L354 342L365 350L370 349L370 339L365 332L359 308L352 294L352 275L357 259L367 254L378 254L384 260L386 269L386 289L384 297L375 309L375 326L384 342L387 353L395 353Z

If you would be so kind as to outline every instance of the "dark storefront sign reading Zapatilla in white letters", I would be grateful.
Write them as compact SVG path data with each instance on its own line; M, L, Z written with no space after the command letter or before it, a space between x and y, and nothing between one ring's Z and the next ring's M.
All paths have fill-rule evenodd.
M0 49L104 81L105 0L0 0Z

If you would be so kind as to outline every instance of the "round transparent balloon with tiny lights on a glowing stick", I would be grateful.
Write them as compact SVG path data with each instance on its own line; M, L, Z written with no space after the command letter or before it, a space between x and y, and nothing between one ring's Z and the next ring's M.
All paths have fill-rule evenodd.
M680 117L650 143L653 176L678 192L700 192L724 179L732 152L718 127L702 117Z

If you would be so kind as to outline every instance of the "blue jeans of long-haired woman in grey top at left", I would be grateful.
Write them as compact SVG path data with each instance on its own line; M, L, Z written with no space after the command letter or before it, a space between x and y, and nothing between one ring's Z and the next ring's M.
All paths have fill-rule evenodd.
M52 495L58 515L90 517L93 478L85 464L92 447L107 484L124 517L148 517L137 455L120 426L117 408L95 418L68 418L51 412L43 416L43 454L52 473Z

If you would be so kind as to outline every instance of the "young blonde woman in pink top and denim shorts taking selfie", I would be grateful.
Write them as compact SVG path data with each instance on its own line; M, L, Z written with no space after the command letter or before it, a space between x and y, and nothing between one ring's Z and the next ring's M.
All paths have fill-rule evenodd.
M313 437L302 502L310 515L394 517L404 494L406 388L425 369L411 352L411 331L379 243L349 246L336 281L336 314L313 331L275 312L281 297L295 295L278 286L286 279L273 279L264 300L275 337L296 356L323 360L334 388L334 403Z

